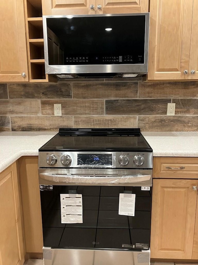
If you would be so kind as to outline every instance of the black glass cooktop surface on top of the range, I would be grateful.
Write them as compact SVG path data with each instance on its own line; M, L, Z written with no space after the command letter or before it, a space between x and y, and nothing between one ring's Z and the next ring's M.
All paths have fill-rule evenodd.
M153 151L139 128L59 129L39 151Z

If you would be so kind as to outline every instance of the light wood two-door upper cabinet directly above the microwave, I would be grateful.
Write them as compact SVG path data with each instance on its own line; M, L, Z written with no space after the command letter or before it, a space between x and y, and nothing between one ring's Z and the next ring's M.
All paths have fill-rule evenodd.
M43 15L148 12L149 0L42 0Z

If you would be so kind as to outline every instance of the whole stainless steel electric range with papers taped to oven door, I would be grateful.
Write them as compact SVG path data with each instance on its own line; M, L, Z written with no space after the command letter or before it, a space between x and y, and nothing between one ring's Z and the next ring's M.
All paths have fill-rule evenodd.
M149 264L152 169L138 128L59 129L39 149L45 265Z

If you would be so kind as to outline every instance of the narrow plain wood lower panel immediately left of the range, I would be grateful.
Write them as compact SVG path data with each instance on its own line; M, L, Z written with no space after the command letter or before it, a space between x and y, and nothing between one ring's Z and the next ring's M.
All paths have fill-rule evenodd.
M22 157L19 159L19 166L26 251L42 253L43 233L41 199L38 183L38 157Z

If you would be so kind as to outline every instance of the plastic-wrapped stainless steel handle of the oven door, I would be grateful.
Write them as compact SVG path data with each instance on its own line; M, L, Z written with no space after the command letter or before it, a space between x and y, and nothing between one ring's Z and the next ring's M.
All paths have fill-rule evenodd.
M80 176L66 174L39 173L41 179L59 183L86 183L86 184L132 184L150 180L151 175L123 175L123 176Z

